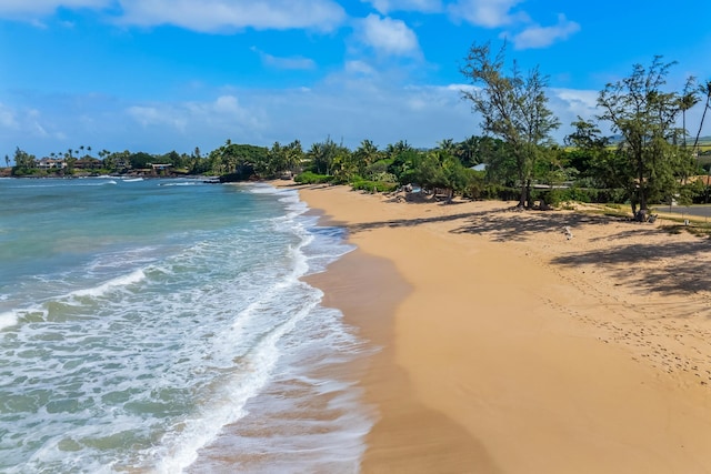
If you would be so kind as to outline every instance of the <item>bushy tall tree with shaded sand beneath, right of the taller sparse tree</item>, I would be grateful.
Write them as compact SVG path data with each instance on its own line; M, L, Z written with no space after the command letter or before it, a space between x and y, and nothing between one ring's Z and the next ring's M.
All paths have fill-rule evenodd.
M678 145L685 134L675 127L682 100L662 90L673 64L659 56L649 68L634 64L628 78L607 84L598 97L603 111L598 119L622 135L618 153L624 167L618 171L634 214L638 204L647 212L650 202L671 199L692 165L689 153Z

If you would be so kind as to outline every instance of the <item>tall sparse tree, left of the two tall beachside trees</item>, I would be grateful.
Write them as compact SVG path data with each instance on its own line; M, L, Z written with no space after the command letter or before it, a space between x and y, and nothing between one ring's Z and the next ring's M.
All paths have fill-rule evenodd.
M494 56L490 43L471 46L461 72L473 88L461 93L481 114L482 130L509 143L521 188L519 206L530 206L535 164L545 157L540 148L560 122L548 108L548 78L538 68L523 75L514 61L511 75L504 74L505 47Z

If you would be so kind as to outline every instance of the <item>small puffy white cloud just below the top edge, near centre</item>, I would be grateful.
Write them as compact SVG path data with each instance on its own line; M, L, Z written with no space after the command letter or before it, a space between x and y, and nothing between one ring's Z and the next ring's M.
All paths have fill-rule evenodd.
M418 38L401 20L369 14L360 21L361 40L378 52L390 56L419 57Z

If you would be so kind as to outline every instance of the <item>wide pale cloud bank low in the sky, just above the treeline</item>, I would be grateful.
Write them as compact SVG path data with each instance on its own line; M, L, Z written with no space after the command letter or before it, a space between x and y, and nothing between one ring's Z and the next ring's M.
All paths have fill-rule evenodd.
M402 87L391 74L397 72L350 61L332 80L310 88L221 90L204 101L127 104L104 98L97 107L87 97L37 95L21 109L0 104L0 157L11 155L14 147L44 155L79 144L148 153L190 152L196 147L209 151L227 139L266 147L299 139L309 148L328 137L351 149L364 139L381 148L400 140L430 148L443 139L481 134L481 118L461 100L460 91L472 85ZM598 91L547 92L561 121L554 134L561 143L578 115L592 120L599 113ZM201 95L206 93L207 88ZM692 112L688 123L698 127L701 110ZM708 121L703 134L711 134Z

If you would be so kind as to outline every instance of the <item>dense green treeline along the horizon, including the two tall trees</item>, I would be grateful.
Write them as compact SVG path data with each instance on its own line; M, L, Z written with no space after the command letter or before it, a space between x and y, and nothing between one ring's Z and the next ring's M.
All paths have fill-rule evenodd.
M450 199L518 200L521 206L628 202L633 212L671 200L709 201L711 143L700 133L711 109L711 81L690 78L682 91L669 91L665 77L673 63L657 57L647 68L637 64L628 78L600 92L600 114L579 118L561 145L550 137L560 122L548 108L548 79L538 69L524 74L515 63L507 74L504 63L505 44L495 53L489 43L471 47L461 72L472 88L462 97L483 117L484 135L461 142L445 139L414 149L399 141L379 149L363 140L351 150L327 138L304 150L299 140L271 147L228 140L207 154L197 148L190 154L158 155L102 150L98 158L82 145L42 160L18 148L11 173L216 175L221 181L296 177L302 183L349 183L368 191L417 184ZM685 114L698 103L703 114L692 134ZM615 137L602 135L603 127Z

